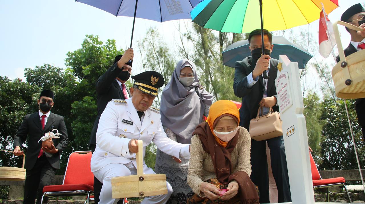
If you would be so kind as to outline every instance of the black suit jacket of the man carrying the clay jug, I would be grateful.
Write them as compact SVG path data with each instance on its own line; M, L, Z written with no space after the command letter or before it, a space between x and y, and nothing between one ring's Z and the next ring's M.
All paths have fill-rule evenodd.
M16 146L22 147L24 141L28 138L28 149L25 159L24 168L32 169L35 162L38 159L39 151L41 151L42 142L38 143L38 140L45 135L46 132L50 131L50 128L57 129L58 133L61 133L59 139L52 139L55 148L58 152L55 154L47 153L46 157L51 166L55 169L59 169L59 156L68 144L67 129L64 121L64 117L50 113L47 123L45 124L45 129L42 130L41 118L39 117L39 112L28 114L24 117L22 125L20 125L16 136L14 137L14 148Z

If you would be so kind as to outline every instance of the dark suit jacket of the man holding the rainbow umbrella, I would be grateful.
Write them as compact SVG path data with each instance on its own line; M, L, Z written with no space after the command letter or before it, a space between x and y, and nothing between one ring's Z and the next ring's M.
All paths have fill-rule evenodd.
M268 79L268 97L276 95L275 78L277 76L277 64L278 60L270 60L270 71ZM262 96L264 95L264 80L262 76L259 76L253 87L247 86L247 75L249 75L254 65L251 64L251 57L246 57L242 61L237 61L235 65L233 91L237 97L242 97L242 106L239 109L240 122L239 125L250 129L250 120L256 117ZM273 107L274 111L279 111L277 106Z

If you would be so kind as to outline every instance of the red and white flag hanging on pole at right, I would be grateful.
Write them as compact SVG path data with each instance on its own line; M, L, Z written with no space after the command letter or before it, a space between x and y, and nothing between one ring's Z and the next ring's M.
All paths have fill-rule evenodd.
M326 16L326 18L324 18L324 16ZM318 43L319 53L324 58L327 58L330 55L333 47L336 45L332 23L330 19L328 19L326 13L323 13L323 10L320 12L319 17Z

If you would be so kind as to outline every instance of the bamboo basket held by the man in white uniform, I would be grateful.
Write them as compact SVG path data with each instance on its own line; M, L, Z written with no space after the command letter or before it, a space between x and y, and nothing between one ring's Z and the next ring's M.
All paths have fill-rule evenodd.
M119 176L111 179L112 197L144 197L167 194L166 175L143 174L143 144L138 140L137 175Z

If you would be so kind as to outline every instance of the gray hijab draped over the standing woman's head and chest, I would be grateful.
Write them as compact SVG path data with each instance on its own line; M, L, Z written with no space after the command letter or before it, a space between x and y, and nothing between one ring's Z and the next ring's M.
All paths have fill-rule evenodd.
M190 87L184 87L177 77L180 77L180 71L184 67L191 67L195 77ZM212 105L213 96L196 87L199 84L198 75L196 73L196 65L187 59L177 63L172 73L170 82L162 91L161 96L161 122L162 125L170 128L177 135L177 142L190 144L192 133L196 126L201 123L205 106ZM199 95L195 89L199 91Z

